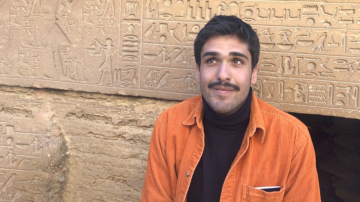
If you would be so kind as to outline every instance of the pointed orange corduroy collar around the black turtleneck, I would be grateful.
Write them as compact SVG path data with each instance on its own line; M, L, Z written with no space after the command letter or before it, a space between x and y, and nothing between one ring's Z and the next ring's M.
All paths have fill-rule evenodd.
M264 142L265 139L265 124L264 119L262 118L262 113L260 110L260 107L258 105L257 99L255 94L252 93L252 100L251 100L251 112L250 112L250 120L249 125L247 127L245 135L248 135L248 137L252 137L256 129L259 128L259 135L261 135L261 143ZM202 102L201 95L195 97L196 100L195 108L193 111L190 112L190 114L185 118L183 124L184 125L194 125L195 123L200 129L203 129L203 115L204 115L204 106Z

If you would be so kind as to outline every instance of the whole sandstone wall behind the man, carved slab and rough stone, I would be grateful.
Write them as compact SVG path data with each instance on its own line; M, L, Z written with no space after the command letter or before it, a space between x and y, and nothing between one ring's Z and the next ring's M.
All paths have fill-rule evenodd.
M154 121L177 103L169 100L199 94L192 44L214 14L258 33L258 97L285 111L360 118L356 0L109 2L0 0L1 201L140 201ZM320 145L342 142L329 134ZM319 175L356 201L347 180L358 168L331 162L320 161Z

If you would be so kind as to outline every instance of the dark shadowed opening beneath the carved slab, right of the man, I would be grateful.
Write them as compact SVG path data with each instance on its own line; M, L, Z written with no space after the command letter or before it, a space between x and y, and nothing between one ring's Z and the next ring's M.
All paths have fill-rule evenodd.
M360 120L289 113L308 128L315 148L321 201L360 201Z

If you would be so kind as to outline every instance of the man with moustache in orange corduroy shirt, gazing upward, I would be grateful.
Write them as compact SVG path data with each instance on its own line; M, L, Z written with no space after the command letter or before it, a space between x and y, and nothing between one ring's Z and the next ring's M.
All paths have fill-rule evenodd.
M215 16L194 42L201 96L157 119L142 201L319 202L309 132L256 98L260 43L235 16ZM279 186L266 192L256 187Z

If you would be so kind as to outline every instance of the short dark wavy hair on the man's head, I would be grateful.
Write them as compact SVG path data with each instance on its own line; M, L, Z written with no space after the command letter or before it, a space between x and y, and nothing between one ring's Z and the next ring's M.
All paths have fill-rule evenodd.
M204 44L210 38L217 36L233 36L240 42L246 43L251 54L251 68L255 68L260 54L259 38L249 24L235 15L215 15L198 33L194 42L194 53L195 62L199 68Z

